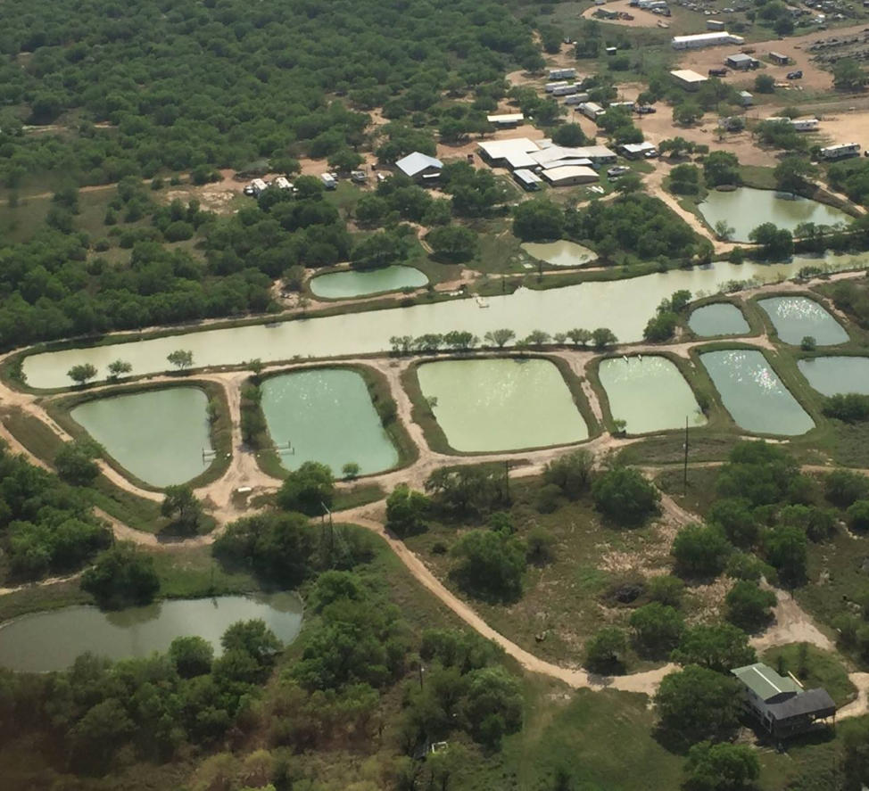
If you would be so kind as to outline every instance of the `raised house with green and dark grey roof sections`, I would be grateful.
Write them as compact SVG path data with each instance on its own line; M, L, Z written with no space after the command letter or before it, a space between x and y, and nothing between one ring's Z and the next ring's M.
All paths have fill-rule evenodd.
M793 676L780 676L763 663L731 671L741 681L743 703L771 736L784 738L835 717L836 704L826 689L804 689Z

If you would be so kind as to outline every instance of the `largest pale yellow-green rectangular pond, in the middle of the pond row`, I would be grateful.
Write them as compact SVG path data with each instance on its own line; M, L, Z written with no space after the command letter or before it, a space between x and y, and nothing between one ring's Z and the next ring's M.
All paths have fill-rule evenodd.
M451 448L466 452L563 445L588 439L558 367L549 360L468 359L417 368Z

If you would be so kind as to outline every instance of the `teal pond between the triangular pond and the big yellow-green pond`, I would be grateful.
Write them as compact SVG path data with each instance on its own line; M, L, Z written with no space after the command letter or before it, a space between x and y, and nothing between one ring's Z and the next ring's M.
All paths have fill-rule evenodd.
M371 403L362 375L346 368L318 368L272 376L262 383L262 412L281 462L289 470L319 461L335 475L348 462L361 474L398 464L398 452Z

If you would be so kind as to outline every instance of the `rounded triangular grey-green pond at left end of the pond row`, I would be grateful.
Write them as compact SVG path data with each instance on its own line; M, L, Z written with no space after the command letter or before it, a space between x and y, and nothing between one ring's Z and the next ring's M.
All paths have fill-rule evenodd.
M201 474L211 450L208 397L198 387L167 387L94 399L70 410L106 453L152 486Z

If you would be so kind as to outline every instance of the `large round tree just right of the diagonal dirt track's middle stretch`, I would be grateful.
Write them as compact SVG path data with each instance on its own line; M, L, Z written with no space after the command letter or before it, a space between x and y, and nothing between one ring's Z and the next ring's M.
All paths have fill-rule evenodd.
M452 555L459 559L456 576L472 593L514 601L522 592L526 553L512 536L501 531L468 531L452 548Z

